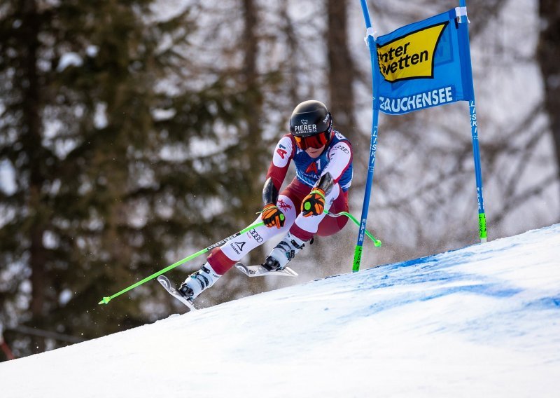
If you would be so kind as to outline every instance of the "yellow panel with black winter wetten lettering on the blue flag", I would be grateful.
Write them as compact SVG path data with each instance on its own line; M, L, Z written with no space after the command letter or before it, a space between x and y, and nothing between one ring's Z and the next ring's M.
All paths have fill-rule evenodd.
M379 71L394 83L409 78L433 78L437 43L449 21L401 36L377 48Z

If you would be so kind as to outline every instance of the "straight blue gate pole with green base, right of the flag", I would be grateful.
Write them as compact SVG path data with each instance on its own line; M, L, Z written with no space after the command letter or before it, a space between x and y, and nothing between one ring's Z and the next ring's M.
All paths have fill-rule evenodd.
M465 0L459 0L460 18L458 36L459 51L461 53L461 69L463 69L463 88L470 90L465 92L469 98L470 111L470 135L472 136L472 156L475 159L475 179L477 183L478 202L478 233L480 242L486 242L486 213L484 212L484 198L482 196L482 167L480 166L480 149L478 142L477 107L475 102L475 87L472 83L472 64L470 62L470 44L468 39L468 18ZM467 76L467 78L465 78Z

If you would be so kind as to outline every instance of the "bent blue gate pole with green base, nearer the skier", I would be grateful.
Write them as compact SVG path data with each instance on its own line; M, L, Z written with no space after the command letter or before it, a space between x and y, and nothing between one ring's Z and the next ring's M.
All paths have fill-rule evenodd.
M365 182L365 193L362 206L362 218L360 221L360 231L358 232L358 242L354 250L354 260L352 272L360 270L360 262L362 259L363 240L365 235L365 224L367 222L367 211L370 208L370 195L373 183L373 170L375 166L375 152L377 151L377 127L379 120L379 95L377 88L379 87L379 65L377 64L377 47L375 46L372 22L370 20L370 11L367 9L365 0L360 0L362 4L363 18L366 27L367 47L370 48L370 57L372 62L372 95L373 95L373 118L372 118L372 136L370 141L370 161L367 167L367 180Z

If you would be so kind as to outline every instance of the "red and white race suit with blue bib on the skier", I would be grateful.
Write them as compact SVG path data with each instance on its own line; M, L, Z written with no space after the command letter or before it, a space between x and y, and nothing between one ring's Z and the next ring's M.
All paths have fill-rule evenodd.
M278 191L292 162L295 165L296 176L281 191L276 203L286 217L283 227L258 226L214 249L208 256L208 262L216 273L223 275L248 252L276 235L285 235L289 231L295 237L307 241L313 235L333 235L346 225L346 217L328 217L325 213L303 217L300 215L300 209L302 200L311 188L323 174L329 172L335 184L325 195L325 210L334 213L348 212L348 189L352 181L352 147L348 139L333 130L332 138L321 156L311 158L297 147L292 135L284 135L276 144L266 177L272 177ZM259 221L260 217L253 224Z

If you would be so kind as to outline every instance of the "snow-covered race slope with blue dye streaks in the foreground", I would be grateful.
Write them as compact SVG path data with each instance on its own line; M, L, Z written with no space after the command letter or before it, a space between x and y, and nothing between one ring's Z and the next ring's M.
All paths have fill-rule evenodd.
M165 395L560 397L560 224L0 364L0 397Z

